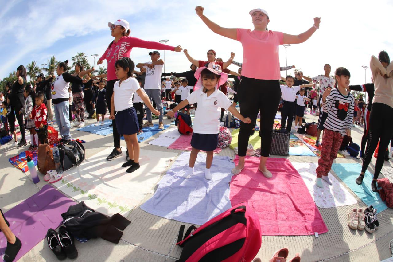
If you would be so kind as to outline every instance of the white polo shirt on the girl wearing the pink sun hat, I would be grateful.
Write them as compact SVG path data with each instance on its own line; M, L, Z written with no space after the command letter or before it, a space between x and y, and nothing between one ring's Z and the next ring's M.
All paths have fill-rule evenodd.
M208 97L201 88L192 92L187 97L187 101L190 104L198 103L195 110L194 133L218 134L220 131L221 107L228 109L232 104L231 100L218 89Z

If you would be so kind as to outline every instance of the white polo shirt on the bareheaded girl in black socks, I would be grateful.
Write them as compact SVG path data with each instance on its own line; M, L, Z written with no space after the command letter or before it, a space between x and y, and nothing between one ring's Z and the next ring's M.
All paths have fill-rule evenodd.
M129 77L119 84L120 81L116 81L113 86L115 110L123 111L133 106L132 95L141 87L134 77Z

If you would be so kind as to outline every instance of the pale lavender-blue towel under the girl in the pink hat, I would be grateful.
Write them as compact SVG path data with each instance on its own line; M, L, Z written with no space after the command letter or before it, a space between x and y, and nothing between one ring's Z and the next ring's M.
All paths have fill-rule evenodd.
M231 208L229 183L235 163L229 157L214 156L213 179L205 179L206 155L199 153L194 173L184 178L190 152L183 152L167 171L151 199L141 209L167 219L202 225Z

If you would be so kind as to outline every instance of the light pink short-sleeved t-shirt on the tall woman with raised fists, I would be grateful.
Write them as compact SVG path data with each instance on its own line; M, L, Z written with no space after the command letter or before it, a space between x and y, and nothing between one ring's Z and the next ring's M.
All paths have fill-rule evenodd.
M278 46L284 34L277 31L237 29L237 40L243 46L242 76L255 79L280 79Z

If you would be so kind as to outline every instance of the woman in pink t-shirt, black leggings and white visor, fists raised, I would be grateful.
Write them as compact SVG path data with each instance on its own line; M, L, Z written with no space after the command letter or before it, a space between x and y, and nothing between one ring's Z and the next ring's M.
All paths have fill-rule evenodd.
M250 11L254 30L239 28L223 28L203 15L204 8L197 6L196 14L213 32L240 41L243 46L242 77L238 87L240 113L251 118L255 123L258 111L261 112L261 162L259 170L265 177L272 177L266 168L266 161L272 144L272 127L279 105L281 91L279 85L279 45L299 44L311 37L319 28L320 17L314 18L314 25L299 35L288 35L282 32L267 30L270 22L268 13L263 9ZM244 157L247 151L248 139L252 131L252 124L240 124L239 131L239 163L232 170L237 175L244 168Z

